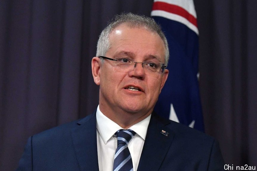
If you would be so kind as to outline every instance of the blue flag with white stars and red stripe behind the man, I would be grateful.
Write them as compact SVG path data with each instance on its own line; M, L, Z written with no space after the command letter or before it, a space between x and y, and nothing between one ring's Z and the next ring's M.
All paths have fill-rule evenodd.
M198 84L198 28L193 0L154 0L151 16L168 40L168 80L155 112L204 131Z

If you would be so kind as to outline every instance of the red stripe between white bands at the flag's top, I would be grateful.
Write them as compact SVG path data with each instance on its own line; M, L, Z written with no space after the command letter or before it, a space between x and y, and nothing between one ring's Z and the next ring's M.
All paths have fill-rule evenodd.
M172 5L165 2L154 2L153 10L162 10L162 11L180 15L186 18L190 23L192 23L197 27L196 18L193 15L191 15L187 10L177 5Z

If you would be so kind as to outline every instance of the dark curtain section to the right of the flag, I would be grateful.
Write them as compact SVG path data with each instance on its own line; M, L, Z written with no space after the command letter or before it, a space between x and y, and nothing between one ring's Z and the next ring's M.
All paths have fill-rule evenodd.
M253 87L257 85L257 3L195 4L206 132L219 139L226 164L256 166L257 91Z

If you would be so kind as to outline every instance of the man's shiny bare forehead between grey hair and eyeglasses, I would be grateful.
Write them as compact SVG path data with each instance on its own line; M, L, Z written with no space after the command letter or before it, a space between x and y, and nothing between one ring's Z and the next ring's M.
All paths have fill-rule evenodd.
M165 46L159 34L151 32L143 26L131 27L121 24L112 30L109 35L110 49L106 53L115 55L128 52L135 57L155 56L164 62Z

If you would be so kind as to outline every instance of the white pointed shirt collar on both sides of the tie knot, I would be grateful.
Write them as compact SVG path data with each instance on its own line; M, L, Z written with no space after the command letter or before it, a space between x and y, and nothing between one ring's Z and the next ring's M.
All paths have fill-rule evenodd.
M135 131L142 139L145 140L150 119L151 114L139 123L132 125L129 129ZM106 117L100 111L99 105L97 106L96 110L96 128L105 144L115 134L115 132L123 129L122 127L120 127L120 125Z

